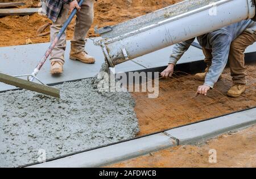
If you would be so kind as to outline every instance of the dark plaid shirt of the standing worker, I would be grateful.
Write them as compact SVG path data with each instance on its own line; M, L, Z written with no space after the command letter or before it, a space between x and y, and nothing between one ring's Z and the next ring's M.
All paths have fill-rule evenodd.
M43 0L46 3L46 15L52 22L56 22L64 4L73 0Z

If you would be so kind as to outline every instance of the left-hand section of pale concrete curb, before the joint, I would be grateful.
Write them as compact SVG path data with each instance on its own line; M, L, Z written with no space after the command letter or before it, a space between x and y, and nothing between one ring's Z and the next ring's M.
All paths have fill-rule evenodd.
M176 145L176 140L171 139L163 133L159 133L150 135L148 137L130 140L128 142L83 152L81 154L64 157L63 159L53 160L38 165L32 165L31 168L102 167L104 165L131 159Z

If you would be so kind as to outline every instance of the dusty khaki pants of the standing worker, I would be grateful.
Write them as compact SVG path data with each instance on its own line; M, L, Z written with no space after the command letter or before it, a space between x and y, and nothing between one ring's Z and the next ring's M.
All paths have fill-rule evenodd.
M73 35L73 39L71 41L73 53L79 53L85 49L85 43L86 43L85 37L93 23L93 16L94 16L93 4L94 4L94 0L84 1L84 3L82 3L80 11L77 12L76 14L75 32ZM57 33L59 33L64 22L67 20L68 12L69 12L69 5L64 5L59 18L57 18L57 21L51 25L51 42L55 39L55 37L57 36ZM64 53L66 49L66 37L67 37L66 33L67 32L65 32L63 36L61 36L59 42L56 44L55 48L52 50L52 54L50 58L51 62L55 62L55 61L59 61L62 63L65 62Z

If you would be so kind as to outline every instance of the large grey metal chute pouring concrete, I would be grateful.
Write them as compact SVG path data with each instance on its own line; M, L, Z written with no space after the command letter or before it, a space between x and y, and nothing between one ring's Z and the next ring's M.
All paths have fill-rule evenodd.
M190 5L193 8L190 8ZM161 15L162 19L159 18ZM133 19L131 22L116 25L122 33L115 31L115 27L106 28L105 32L102 32L103 28L98 29L98 32L102 32L103 37L106 37L98 44L101 45L109 66L114 67L119 63L254 16L254 0L184 1ZM154 23L143 24L143 20L151 20ZM133 23L134 27L130 27Z

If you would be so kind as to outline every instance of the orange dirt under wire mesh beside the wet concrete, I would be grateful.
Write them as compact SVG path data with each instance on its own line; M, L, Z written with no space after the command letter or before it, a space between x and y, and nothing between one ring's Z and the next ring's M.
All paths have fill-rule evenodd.
M160 79L159 97L156 99L149 99L147 93L133 93L141 130L138 135L151 134L256 106L255 64L247 67L247 90L238 98L226 96L232 86L229 69L225 69L224 78L217 82L207 96L195 96L197 87L203 82L196 81L189 74Z

